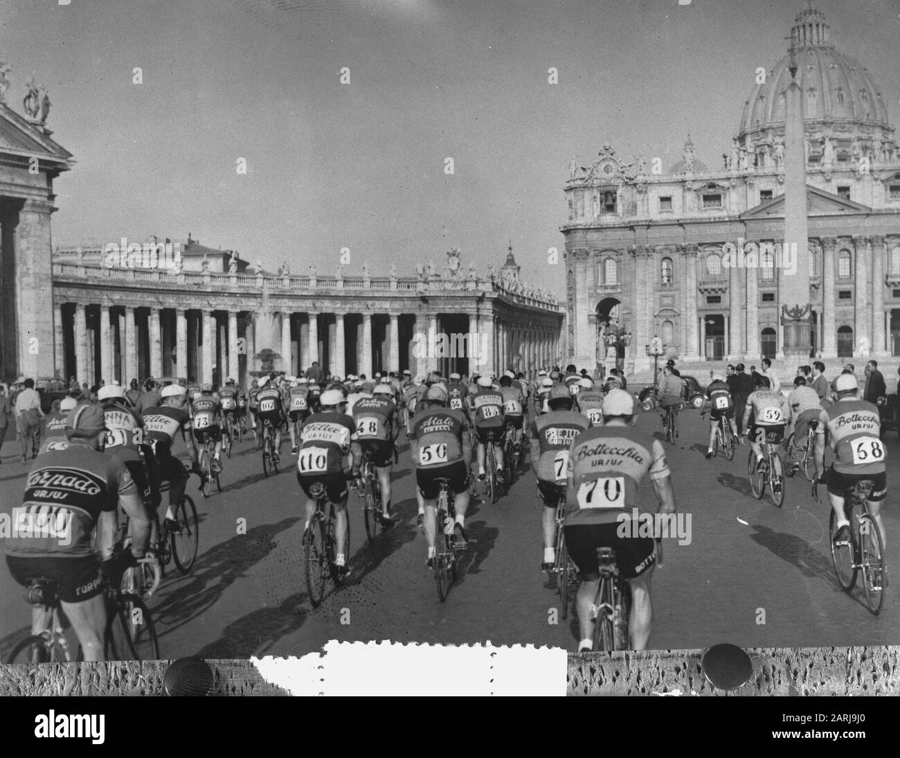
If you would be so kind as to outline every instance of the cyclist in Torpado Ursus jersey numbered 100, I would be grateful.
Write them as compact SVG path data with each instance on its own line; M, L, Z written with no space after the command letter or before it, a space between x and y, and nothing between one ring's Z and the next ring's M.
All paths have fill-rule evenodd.
M57 585L57 595L81 645L85 661L103 661L106 604L103 573L112 573L116 508L131 519L130 558L142 559L150 537L150 519L128 469L103 455L106 428L103 409L79 405L69 411L68 446L35 460L25 483L16 529L6 540L6 565L23 587L43 577ZM96 534L103 564L91 544ZM129 563L123 556L122 564ZM31 609L31 631L46 627L46 612Z

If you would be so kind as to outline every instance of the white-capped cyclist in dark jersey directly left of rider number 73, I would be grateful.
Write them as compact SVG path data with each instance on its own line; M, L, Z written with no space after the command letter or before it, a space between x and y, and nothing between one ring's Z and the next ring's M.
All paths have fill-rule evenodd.
M169 528L176 529L175 509L184 498L187 486L187 471L174 455L172 446L175 438L181 433L187 455L191 459L191 471L201 474L197 463L197 448L193 444L191 434L191 415L188 413L187 393L181 384L169 384L163 387L162 405L148 408L142 414L145 438L149 438L150 446L157 458L160 483L169 483L169 504L166 510L166 522Z

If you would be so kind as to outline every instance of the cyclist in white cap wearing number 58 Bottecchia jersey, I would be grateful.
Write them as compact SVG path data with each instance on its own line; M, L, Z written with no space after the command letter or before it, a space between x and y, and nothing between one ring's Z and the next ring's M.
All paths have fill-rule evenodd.
M875 482L869 494L869 512L881 532L881 549L887 553L887 535L881 522L881 504L887 495L887 450L879 438L881 419L878 406L858 397L860 385L853 374L839 374L834 380L837 400L819 411L815 429L815 476L822 481L825 442L834 453L828 471L828 500L838 525L835 545L850 541L850 522L844 512L844 493L863 479ZM879 577L887 582L887 576Z

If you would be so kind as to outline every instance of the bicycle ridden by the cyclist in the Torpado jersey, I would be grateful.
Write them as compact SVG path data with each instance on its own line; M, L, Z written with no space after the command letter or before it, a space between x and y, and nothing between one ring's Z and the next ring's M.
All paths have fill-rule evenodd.
M9 656L7 663L69 663L72 655L65 635L65 614L59 602L57 583L33 577L25 591L25 600L44 609L46 627L40 634L26 636ZM103 632L103 657L107 661L148 661L159 659L159 644L153 617L137 595L121 592L112 585L104 589L106 627ZM76 660L83 660L79 648Z

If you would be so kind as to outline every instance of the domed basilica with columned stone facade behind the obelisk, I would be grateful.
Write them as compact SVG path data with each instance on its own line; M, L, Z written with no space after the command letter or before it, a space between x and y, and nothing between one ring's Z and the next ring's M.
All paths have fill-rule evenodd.
M812 354L900 355L900 154L884 95L810 4L791 30L806 131ZM578 365L783 356L786 54L757 76L733 144L707 167L604 144L564 185L568 355ZM787 244L783 244L787 243ZM794 268L793 270L796 270Z

